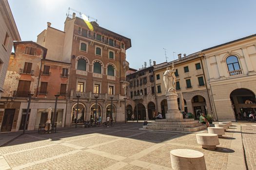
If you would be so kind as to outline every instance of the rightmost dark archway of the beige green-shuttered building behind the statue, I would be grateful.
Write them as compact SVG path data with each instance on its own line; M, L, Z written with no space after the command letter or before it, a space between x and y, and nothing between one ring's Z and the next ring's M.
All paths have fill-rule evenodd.
M207 106L204 97L200 95L194 96L191 102L196 119L199 119L201 113L207 114Z

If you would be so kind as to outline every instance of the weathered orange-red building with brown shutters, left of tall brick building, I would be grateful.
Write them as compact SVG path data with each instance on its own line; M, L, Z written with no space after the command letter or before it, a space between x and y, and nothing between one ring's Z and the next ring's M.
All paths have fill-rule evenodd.
M33 94L27 129L37 129L47 120L48 108L55 108L55 95L59 96L56 121L64 127L66 112L66 86L70 63L46 59L47 49L33 41L14 42L14 50L4 82L0 100L1 132L23 130L28 105L28 94ZM52 116L53 120L53 116Z

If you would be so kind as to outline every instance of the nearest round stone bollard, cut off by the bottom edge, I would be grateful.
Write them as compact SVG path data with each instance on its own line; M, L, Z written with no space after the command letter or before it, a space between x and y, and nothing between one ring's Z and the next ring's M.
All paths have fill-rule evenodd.
M170 154L174 170L206 170L203 153L190 149L176 149Z

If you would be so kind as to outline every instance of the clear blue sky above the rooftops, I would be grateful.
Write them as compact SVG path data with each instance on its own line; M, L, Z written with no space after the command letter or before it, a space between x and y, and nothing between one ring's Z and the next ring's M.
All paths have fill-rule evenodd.
M131 68L149 59L173 60L256 33L256 0L9 0L22 40L46 28L63 30L68 7L98 19L101 27L131 38Z

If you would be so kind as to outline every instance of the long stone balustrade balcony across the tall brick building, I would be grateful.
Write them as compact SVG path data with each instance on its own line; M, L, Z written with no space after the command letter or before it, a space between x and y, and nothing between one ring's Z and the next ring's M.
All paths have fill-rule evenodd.
M71 90L71 97L76 98L77 96L80 96L80 98L87 98L87 99L95 99L96 96L98 96L98 99L103 99L103 100L111 100L111 97L113 97L113 100L123 99L120 95L112 95L107 93L79 92L79 91Z

